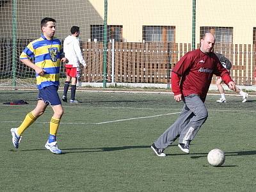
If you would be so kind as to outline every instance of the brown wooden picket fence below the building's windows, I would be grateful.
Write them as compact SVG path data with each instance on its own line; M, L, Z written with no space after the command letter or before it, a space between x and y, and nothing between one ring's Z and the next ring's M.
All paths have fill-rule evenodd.
M198 44L197 47L200 45ZM103 66L102 42L82 44L87 67L82 70L81 81L101 82ZM255 45L216 44L214 51L224 54L232 62L230 74L237 84L255 84ZM111 82L112 55L116 83L168 83L172 67L191 51L191 44L163 42L123 43L111 42L107 50L107 81ZM212 78L212 83L216 78Z

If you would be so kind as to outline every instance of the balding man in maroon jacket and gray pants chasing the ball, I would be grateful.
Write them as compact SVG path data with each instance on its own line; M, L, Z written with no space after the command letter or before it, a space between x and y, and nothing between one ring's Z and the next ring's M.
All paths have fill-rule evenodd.
M189 153L189 143L207 119L205 97L211 84L212 75L220 76L230 90L236 90L229 72L212 52L215 37L205 33L200 41L200 49L185 54L172 70L172 92L177 102L184 102L179 118L152 144L151 148L159 157L164 157L164 149L179 138L179 148Z

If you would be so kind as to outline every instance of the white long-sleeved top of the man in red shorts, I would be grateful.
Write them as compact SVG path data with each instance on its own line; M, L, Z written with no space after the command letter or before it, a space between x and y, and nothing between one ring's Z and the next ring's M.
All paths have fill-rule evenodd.
M79 67L79 63L81 63L84 67L86 67L86 63L80 49L80 43L76 36L68 35L65 38L63 43L63 51L65 53L65 58L68 59L68 65Z

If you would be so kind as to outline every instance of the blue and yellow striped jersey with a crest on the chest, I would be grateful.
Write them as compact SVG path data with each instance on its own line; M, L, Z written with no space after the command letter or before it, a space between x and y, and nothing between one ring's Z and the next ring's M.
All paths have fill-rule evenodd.
M45 70L44 76L36 74L38 90L45 86L59 86L60 82L60 56L63 53L58 38L47 40L44 35L30 42L20 54L20 60L33 59L35 65Z

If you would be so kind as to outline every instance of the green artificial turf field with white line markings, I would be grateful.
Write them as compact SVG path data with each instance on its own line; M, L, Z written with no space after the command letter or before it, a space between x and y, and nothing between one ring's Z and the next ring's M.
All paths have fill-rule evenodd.
M69 92L70 93L70 92ZM0 191L255 191L255 97L208 95L209 117L190 145L177 141L157 157L150 145L179 115L182 102L160 93L77 92L64 103L55 155L44 148L52 109L23 134L19 149L10 129L35 108L36 91L0 91ZM60 92L61 95L61 92ZM3 102L24 99L22 106ZM225 152L221 167L207 163L212 148Z

